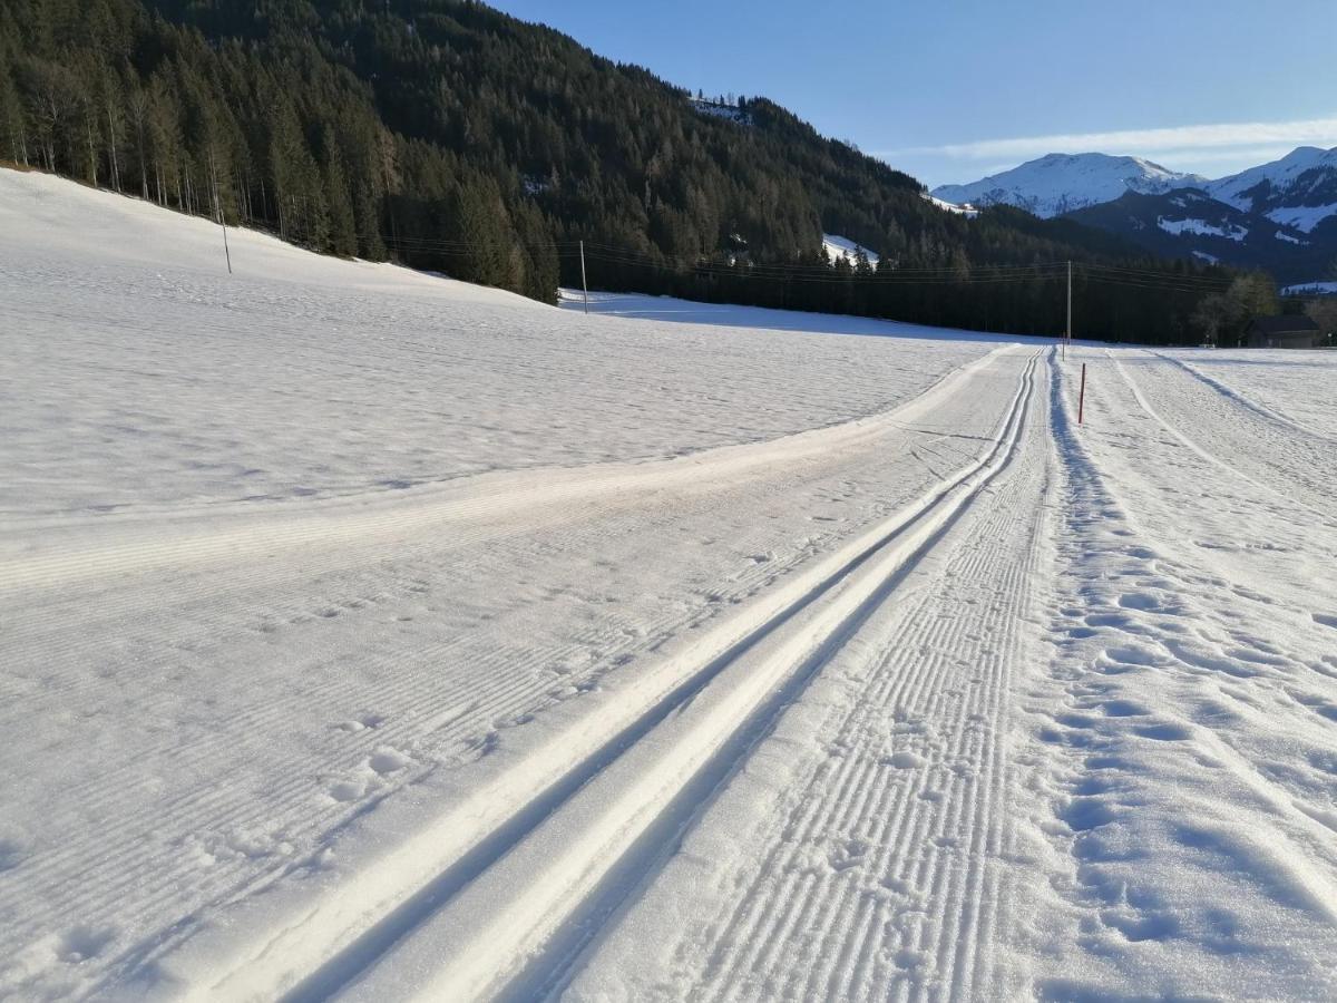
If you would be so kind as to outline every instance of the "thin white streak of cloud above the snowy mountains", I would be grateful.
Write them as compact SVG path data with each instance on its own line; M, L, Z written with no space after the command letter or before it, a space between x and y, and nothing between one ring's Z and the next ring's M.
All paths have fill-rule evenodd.
M1207 150L1238 147L1282 148L1294 146L1337 146L1337 116L1300 122L1234 122L1174 128L1130 128L1115 132L1060 132L1047 136L980 139L971 143L917 146L884 150L874 154L896 156L945 156L960 160L1016 160L1050 152L1140 154L1167 156L1174 154L1203 158ZM1226 159L1222 154L1221 159Z

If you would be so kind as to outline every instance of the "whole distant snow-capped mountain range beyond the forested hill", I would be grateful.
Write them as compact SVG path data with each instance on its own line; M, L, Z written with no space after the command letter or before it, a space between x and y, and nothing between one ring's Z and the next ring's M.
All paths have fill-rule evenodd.
M1155 254L1261 267L1282 285L1332 277L1337 259L1337 147L1209 181L1136 156L1050 154L933 195L1068 217Z

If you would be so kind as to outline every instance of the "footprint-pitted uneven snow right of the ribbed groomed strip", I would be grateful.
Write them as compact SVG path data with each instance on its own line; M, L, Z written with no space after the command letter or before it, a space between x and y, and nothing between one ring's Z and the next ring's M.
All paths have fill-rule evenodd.
M1233 449L1241 428L1177 411L1182 373L1159 365L1175 381L1161 393L1150 366L1079 350L1056 384L1055 655L1024 699L1015 805L1023 852L1054 877L1013 904L1016 954L1038 959L1020 984L1328 998L1337 534L1288 465L1255 465L1288 453Z

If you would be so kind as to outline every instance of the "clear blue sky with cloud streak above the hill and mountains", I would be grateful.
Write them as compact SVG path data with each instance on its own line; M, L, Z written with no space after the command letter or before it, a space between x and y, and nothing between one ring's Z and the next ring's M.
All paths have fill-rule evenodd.
M765 95L929 185L1046 152L1209 177L1337 146L1337 0L496 0L707 94Z

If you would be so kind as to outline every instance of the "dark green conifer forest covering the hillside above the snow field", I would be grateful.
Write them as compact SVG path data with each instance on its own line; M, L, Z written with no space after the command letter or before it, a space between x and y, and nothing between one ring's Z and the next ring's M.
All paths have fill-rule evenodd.
M1062 332L1067 261L1083 337L1230 344L1274 308L468 0L0 0L0 158L544 301L583 241L591 288L980 330Z

